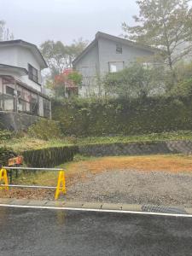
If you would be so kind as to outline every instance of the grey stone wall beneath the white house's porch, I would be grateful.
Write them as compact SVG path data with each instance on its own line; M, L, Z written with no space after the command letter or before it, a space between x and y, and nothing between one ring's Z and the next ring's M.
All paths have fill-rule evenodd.
M40 119L38 116L26 113L0 111L0 129L9 131L26 131L28 126Z

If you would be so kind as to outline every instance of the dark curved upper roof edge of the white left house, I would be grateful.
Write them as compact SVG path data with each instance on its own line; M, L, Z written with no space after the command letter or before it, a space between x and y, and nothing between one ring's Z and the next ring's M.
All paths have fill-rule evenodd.
M23 47L28 47L30 49L33 50L34 53L38 54L39 56L39 61L42 61L42 67L43 68L46 68L48 67L46 61L44 60L44 56L41 54L40 50L38 49L38 47L35 45L35 44L31 44L31 43L28 43L26 41L23 41L21 39L17 39L17 40L9 40L9 41L1 41L0 42L0 46L1 45L20 45L20 46L23 46Z

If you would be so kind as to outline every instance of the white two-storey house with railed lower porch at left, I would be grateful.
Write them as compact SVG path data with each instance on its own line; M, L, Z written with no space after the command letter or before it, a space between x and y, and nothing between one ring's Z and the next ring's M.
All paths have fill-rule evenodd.
M49 97L42 93L41 71L46 67L36 45L0 42L0 112L50 118Z

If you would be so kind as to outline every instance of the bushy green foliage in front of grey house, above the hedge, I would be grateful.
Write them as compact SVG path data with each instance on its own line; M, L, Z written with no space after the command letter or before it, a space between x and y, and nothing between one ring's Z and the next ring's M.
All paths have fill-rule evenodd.
M140 63L133 63L118 73L106 75L103 85L108 95L131 99L163 91L162 78L160 65L147 67Z

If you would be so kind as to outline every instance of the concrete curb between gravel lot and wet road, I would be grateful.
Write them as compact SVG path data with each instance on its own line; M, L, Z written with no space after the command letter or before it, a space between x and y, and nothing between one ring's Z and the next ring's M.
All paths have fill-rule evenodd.
M0 198L1 206L31 206L31 207L61 207L61 208L79 208L79 209L96 209L96 210L114 210L114 211L131 211L131 212L169 212L192 214L192 208L185 207L160 207L160 206L145 206L133 204L113 204L113 203L100 203L100 202L75 202L75 201L38 201L29 199L13 199L13 198Z

